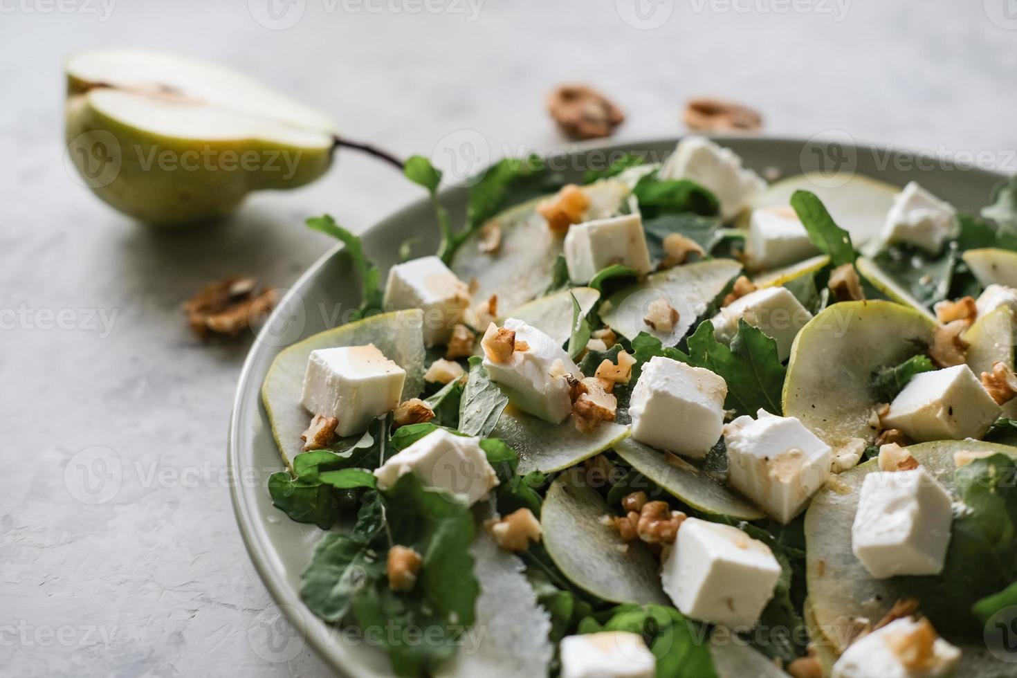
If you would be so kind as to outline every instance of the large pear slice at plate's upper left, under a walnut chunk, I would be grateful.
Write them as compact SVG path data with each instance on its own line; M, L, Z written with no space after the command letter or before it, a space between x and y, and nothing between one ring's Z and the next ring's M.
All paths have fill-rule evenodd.
M588 220L616 214L630 192L614 179L582 189L590 198ZM479 231L456 250L452 269L460 280L475 285L475 303L487 301L493 294L501 308L516 308L550 286L554 260L562 251L564 239L547 228L547 221L537 212L537 205L544 199L524 202L492 220L501 227L501 245L494 252L482 251Z

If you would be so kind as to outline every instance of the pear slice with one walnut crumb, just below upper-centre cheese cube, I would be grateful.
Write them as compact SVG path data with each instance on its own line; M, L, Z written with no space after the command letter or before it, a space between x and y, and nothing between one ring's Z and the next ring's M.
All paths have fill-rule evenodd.
M668 268L611 295L601 304L600 317L604 324L627 340L646 331L664 346L674 346L740 270L741 265L731 259L711 259ZM650 304L661 297L678 312L678 321L670 331L653 329L644 320Z

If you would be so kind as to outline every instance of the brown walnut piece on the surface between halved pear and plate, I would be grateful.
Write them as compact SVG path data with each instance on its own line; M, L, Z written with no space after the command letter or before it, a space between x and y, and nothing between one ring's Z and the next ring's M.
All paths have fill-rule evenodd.
M191 330L200 338L210 333L236 336L268 315L276 305L276 291L257 292L253 278L228 278L213 283L183 306Z

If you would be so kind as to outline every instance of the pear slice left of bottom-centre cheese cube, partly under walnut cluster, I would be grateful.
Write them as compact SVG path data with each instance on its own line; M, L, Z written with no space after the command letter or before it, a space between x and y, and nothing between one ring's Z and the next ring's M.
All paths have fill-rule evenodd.
M609 513L581 469L555 478L540 509L544 546L554 564L570 581L605 601L670 605L657 561L642 542L625 543L604 525Z

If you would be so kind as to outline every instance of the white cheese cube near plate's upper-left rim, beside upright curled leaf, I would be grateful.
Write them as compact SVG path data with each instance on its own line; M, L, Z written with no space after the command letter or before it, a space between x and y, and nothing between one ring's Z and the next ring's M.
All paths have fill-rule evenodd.
M436 256L424 256L388 269L382 302L386 311L424 312L424 344L444 344L470 307L470 290Z

